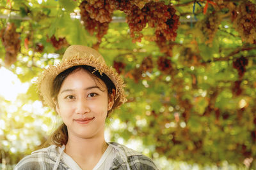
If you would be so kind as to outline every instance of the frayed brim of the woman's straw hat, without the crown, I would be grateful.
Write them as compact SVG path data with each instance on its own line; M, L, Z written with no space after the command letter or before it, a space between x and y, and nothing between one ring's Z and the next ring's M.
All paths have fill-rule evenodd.
M49 66L47 69L43 71L43 73L37 79L37 89L38 94L42 97L43 103L47 106L55 109L55 104L52 100L51 89L52 82L60 74L66 69L73 66L92 66L95 67L95 71L99 71L100 74L106 74L111 81L113 81L116 87L115 94L115 102L113 104L113 108L119 108L123 103L127 101L125 92L124 92L124 80L116 73L113 67L108 67L105 63L99 62L95 57L90 56L86 58L81 58L79 56L73 56L70 59L65 59L61 61L60 64L56 64L55 66Z

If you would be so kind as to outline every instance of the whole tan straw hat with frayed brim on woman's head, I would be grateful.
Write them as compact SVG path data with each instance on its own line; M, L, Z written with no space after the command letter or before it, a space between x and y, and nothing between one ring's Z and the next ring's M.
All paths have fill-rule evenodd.
M95 71L99 71L101 75L102 73L105 73L110 80L113 81L116 87L116 94L115 103L113 104L112 109L118 108L127 101L124 92L124 80L122 80L118 73L116 73L113 67L108 67L106 65L102 55L88 46L71 45L65 51L60 64L49 66L47 69L44 69L43 73L38 77L36 82L38 86L38 93L42 97L44 104L53 109L55 108L55 104L51 97L52 82L56 76L65 71L65 69L79 65L95 67Z

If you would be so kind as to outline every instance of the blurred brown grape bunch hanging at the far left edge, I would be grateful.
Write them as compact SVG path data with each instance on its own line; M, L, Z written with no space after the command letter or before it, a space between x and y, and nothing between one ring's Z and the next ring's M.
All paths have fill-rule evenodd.
M20 50L20 34L16 32L16 26L13 23L8 23L1 30L0 37L5 48L4 63L10 67L17 60Z

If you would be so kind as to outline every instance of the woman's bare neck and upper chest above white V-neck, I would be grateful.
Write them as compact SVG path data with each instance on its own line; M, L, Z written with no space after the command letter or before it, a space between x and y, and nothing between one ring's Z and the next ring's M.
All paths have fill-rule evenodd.
M83 167L91 169L99 162L107 148L108 144L104 135L89 139L68 136L64 152L72 157L82 169Z

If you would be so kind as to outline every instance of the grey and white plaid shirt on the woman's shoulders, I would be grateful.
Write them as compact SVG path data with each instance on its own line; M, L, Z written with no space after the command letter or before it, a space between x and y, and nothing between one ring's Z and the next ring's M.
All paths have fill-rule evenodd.
M115 148L115 158L110 169L157 169L154 162L145 155L118 143L109 143L109 145ZM60 154L57 152L57 147L56 145L51 145L32 152L31 155L20 160L14 170L52 169ZM57 169L70 170L71 168L61 158Z

